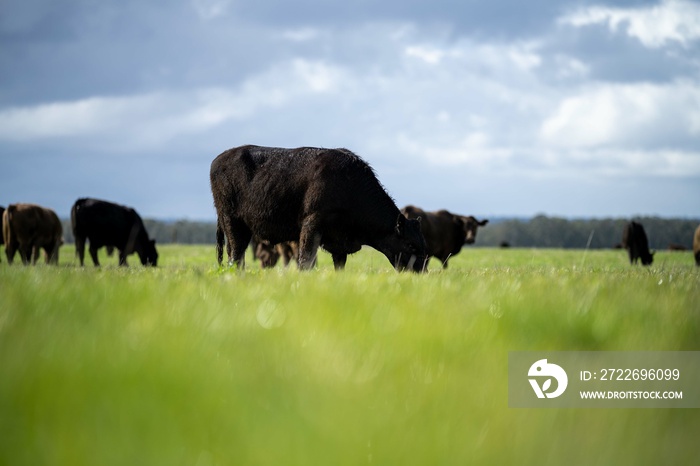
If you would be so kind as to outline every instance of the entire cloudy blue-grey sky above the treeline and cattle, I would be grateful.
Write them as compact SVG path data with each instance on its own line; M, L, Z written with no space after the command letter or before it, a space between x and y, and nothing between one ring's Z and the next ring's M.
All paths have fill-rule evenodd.
M697 0L3 0L0 204L213 219L242 144L399 207L700 216Z

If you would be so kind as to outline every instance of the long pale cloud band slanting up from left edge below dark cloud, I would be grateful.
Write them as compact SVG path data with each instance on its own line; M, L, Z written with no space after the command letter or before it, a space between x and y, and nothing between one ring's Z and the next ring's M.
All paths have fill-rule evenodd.
M294 59L249 78L237 89L93 97L6 108L0 111L0 141L93 137L118 139L132 148L162 145L181 134L200 133L230 119L332 92L342 79L339 69L323 62Z

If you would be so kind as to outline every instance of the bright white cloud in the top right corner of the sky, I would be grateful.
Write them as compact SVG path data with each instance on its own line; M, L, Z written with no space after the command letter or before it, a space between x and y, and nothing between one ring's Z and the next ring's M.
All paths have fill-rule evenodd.
M671 42L683 46L700 39L700 4L687 0L662 0L643 8L594 6L578 10L559 20L576 27L604 24L635 37L646 47L659 48Z

